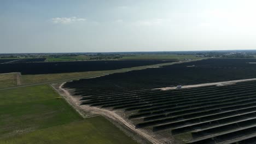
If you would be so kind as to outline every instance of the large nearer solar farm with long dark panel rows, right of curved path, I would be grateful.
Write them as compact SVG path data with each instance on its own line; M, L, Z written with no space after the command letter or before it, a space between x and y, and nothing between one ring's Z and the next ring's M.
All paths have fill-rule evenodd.
M255 143L255 62L204 59L69 81L62 88L78 106L116 113L159 143Z

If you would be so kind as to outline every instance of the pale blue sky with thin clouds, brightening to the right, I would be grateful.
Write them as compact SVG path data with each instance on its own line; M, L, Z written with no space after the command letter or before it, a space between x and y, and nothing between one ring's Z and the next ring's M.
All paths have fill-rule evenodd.
M0 53L256 49L254 0L0 0Z

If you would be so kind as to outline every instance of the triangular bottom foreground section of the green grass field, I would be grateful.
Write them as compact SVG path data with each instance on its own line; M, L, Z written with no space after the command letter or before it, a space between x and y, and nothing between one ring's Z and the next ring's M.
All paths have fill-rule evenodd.
M125 134L103 117L86 118L82 121L58 125L31 133L0 139L5 144L48 144L48 143L98 143L98 144L135 144Z

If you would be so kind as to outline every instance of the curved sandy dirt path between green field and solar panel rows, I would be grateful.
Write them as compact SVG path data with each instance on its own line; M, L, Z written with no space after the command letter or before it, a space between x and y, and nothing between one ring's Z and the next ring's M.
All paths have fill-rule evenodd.
M102 115L102 116L108 117L110 119L113 119L116 122L119 122L119 123L123 124L126 128L129 128L130 130L134 131L138 135L144 137L145 139L147 139L148 141L150 141L154 144L164 144L164 142L161 142L161 141L157 140L154 137L154 135L149 134L146 130L136 129L135 125L126 121L126 119L119 116L117 113L115 113L113 111L100 109L100 108L97 108L97 107L90 107L90 106L87 106L87 105L80 105L80 101L79 101L78 97L73 97L66 89L62 88L62 86L65 83L62 83L59 86L59 90L56 89L55 87L54 87L54 89L58 92L60 92L60 90L61 90L62 91L61 95L68 101L69 104L71 104L75 108L75 110L77 110L80 114L82 114L83 117L86 117L86 115L84 114L83 111L94 113L96 115Z

